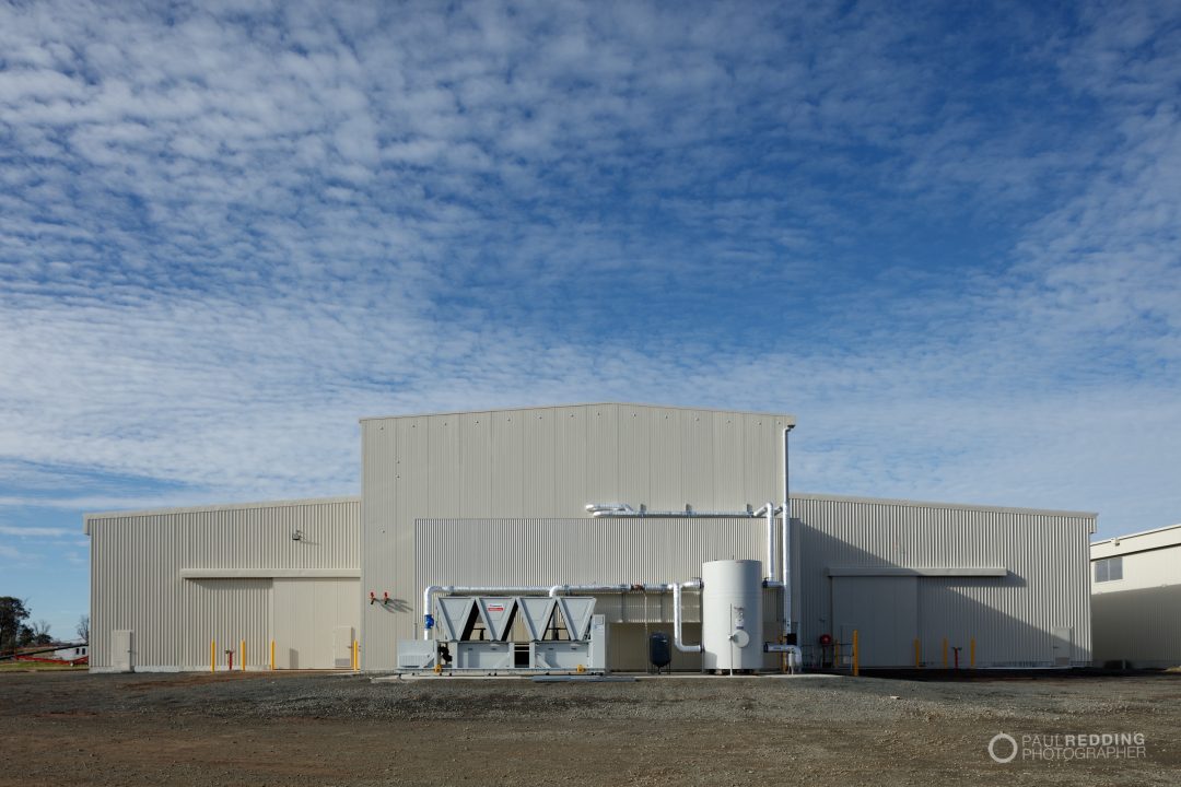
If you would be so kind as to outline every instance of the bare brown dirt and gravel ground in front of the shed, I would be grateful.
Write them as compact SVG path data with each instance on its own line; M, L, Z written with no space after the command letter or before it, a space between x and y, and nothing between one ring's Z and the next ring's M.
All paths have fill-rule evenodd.
M988 755L998 733L1022 749L1011 762ZM1176 675L0 674L0 785L21 786L1176 785L1179 733ZM1063 737L1092 734L1140 734L1143 749Z

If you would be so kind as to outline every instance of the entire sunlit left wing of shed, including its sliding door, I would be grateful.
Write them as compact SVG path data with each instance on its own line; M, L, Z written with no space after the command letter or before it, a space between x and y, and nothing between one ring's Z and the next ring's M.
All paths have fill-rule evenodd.
M360 500L86 514L94 671L351 665ZM244 663L242 643L244 648ZM213 650L213 654L210 651Z

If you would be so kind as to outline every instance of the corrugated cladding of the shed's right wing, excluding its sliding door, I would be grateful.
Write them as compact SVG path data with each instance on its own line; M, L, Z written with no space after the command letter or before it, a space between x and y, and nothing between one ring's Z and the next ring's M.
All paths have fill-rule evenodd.
M919 577L924 661L941 662L947 637L961 663L974 638L978 665L1053 664L1063 629L1069 661L1090 660L1094 514L821 496L792 496L792 514L803 643L837 634L829 568L1005 566L1005 577Z

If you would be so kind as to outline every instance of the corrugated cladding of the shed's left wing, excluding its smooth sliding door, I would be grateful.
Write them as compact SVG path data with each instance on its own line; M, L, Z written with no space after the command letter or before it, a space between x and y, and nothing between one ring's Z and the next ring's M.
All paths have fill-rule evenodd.
M357 498L223 507L87 514L91 538L91 667L110 667L111 631L135 632L137 669L208 669L216 637L226 649L247 640L247 664L268 663L272 579L307 570L359 572ZM301 539L292 533L301 531ZM185 570L224 577L185 579ZM233 576L249 570L250 576ZM357 593L359 596L359 593ZM340 612L355 621L359 598Z

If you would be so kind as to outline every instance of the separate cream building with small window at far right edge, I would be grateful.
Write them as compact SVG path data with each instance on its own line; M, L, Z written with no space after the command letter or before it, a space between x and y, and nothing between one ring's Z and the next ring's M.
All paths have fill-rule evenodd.
M1181 524L1091 544L1095 663L1181 667Z

